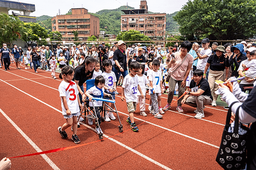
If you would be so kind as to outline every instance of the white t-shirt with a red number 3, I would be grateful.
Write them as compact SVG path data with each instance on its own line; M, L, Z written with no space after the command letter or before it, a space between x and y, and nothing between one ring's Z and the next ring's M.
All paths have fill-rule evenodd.
M74 82L74 81L72 81L72 82ZM74 82L74 85L70 85L69 87L68 87L68 85L69 85L69 83L65 82L64 80L62 80L62 82L59 85L59 96L61 97L62 114L63 115L66 115L67 113L66 113L64 103L62 101L62 96L66 97L68 108L71 111L71 114L80 112L78 99L77 99L77 95L79 93L78 89L77 89L77 84L76 84L76 82Z

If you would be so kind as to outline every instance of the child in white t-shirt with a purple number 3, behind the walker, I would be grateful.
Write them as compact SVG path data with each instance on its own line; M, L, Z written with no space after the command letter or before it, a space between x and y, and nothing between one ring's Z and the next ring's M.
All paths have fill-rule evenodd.
M109 59L105 59L103 62L103 69L105 70L102 74L102 76L105 79L105 93L111 94L113 99L115 100L115 91L116 91L116 82L117 79L115 77L115 73L112 71L112 61ZM114 103L111 104L111 108L115 108ZM106 122L110 122L111 120L115 120L115 116L113 112L106 112L105 115ZM110 120L110 119L111 120Z

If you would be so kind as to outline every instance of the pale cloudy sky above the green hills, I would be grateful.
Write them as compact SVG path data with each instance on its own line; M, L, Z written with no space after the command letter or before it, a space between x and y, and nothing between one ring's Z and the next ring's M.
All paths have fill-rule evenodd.
M95 13L103 9L115 9L120 6L139 8L140 0L12 0L20 3L35 4L35 12L30 16L39 17L41 15L49 15L51 17L56 14L66 14L70 8L86 8L89 12ZM148 10L151 12L171 14L179 11L188 0L147 0ZM9 11L9 14L11 11Z

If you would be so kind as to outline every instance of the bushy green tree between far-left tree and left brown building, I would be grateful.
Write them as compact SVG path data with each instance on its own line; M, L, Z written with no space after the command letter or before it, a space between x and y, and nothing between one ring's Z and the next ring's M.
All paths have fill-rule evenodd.
M26 41L28 45L35 41L43 41L48 37L47 30L41 27L38 23L24 23L23 25L24 32L21 36L21 39Z

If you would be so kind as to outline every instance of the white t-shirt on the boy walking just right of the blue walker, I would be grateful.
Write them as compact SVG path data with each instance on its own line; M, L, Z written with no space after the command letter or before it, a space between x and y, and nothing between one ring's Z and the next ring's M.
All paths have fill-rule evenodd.
M138 91L138 79L137 77L131 77L129 74L124 77L124 82L122 85L124 88L124 96L126 102L137 102Z

